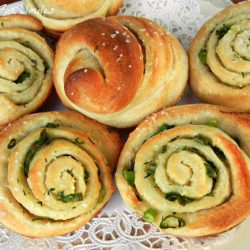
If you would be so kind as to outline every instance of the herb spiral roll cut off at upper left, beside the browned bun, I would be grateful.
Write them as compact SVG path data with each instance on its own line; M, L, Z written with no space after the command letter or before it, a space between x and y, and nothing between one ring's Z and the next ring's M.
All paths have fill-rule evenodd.
M0 17L0 126L35 111L50 94L53 52L39 20Z

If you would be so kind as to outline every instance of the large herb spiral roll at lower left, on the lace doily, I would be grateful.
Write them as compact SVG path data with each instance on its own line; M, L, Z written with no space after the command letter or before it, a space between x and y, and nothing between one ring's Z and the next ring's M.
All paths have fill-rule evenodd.
M29 237L85 225L113 192L118 134L75 112L29 115L0 134L0 222Z

